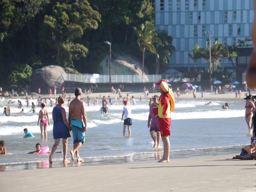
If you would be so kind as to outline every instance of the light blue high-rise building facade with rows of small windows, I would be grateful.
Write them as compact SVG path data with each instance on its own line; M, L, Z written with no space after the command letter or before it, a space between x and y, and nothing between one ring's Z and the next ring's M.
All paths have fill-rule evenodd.
M250 39L254 18L254 0L156 0L155 28L166 30L173 38L176 51L170 57L169 67L179 71L194 69L193 48L199 44L206 48L214 41L225 45L238 45L238 39ZM206 33L205 33L206 32ZM221 61L221 70L232 70L228 60ZM204 59L197 60L196 67L206 70Z

